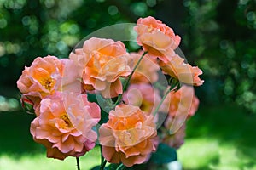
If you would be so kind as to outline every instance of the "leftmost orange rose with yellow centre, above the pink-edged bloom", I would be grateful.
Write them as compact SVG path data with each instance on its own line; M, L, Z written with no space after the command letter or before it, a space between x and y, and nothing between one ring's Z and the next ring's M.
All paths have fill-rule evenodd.
M60 84L56 83L63 75L63 65L55 56L36 58L30 67L25 67L17 81L20 92L24 95L44 98L54 94Z

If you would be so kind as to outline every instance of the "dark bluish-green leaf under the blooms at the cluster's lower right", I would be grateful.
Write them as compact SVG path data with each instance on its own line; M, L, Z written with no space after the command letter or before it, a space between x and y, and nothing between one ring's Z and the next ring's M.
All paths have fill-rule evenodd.
M171 161L177 161L177 152L167 144L159 144L158 149L152 154L150 161L155 164L165 164Z

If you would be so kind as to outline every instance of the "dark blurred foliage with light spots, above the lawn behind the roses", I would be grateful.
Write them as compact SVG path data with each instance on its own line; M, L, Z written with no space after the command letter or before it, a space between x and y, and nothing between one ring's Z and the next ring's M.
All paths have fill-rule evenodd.
M253 0L2 0L0 92L14 96L20 71L38 55L67 58L73 46L90 32L155 14L166 22L172 21L170 26L177 27L183 37L187 59L204 71L207 81L199 93L206 97L205 102L236 101L255 112L255 6ZM176 14L168 17L169 8ZM181 27L173 24L180 22ZM3 90L7 87L9 90Z

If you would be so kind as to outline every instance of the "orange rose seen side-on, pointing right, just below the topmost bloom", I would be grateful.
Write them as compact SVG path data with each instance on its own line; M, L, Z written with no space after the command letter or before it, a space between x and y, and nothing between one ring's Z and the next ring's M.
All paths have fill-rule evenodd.
M184 59L177 54L172 56L172 59L168 60L166 63L159 61L159 65L164 74L170 75L179 82L194 86L201 86L204 82L198 77L202 74L202 71L197 66L192 67L184 63Z

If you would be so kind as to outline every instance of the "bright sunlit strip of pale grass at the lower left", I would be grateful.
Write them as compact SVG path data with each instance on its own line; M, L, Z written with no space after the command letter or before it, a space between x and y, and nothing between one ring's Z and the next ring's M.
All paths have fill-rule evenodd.
M79 158L80 167L83 170L91 169L99 165L100 156L99 148L90 150L86 156ZM74 157L67 157L65 161L49 159L45 156L45 153L26 154L21 156L2 155L0 156L0 169L12 169L12 170L27 170L27 169L61 169L61 170L75 170L76 159Z

